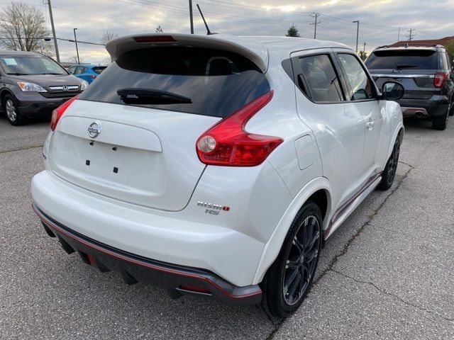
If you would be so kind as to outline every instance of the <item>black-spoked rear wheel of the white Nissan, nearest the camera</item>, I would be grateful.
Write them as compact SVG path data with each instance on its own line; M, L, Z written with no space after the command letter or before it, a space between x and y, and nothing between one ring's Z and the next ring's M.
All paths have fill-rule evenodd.
M262 307L272 317L288 317L309 292L322 244L319 207L309 201L295 217L282 249L262 282Z

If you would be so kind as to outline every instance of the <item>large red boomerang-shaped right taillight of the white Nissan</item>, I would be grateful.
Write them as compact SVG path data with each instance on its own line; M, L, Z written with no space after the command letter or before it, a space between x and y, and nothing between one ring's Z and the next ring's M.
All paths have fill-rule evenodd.
M196 142L200 161L223 166L261 164L284 140L255 135L244 128L248 120L271 100L272 94L272 91L263 94L206 130Z

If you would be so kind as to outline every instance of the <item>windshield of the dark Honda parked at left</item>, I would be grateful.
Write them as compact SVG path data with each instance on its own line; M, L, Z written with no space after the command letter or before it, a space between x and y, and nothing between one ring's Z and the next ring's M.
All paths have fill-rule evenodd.
M57 74L66 75L57 62L43 55L11 55L0 57L1 68L6 74Z

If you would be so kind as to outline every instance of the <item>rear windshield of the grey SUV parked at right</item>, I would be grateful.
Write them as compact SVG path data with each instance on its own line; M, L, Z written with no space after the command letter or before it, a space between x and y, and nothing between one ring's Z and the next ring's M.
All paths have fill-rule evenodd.
M369 69L438 69L433 50L380 50L370 55Z

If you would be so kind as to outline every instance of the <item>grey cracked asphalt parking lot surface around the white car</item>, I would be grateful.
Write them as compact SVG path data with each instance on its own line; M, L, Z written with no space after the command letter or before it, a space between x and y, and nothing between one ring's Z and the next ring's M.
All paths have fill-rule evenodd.
M304 304L273 322L68 256L31 209L48 123L0 118L0 339L454 339L454 119L405 124L393 188L328 239Z

